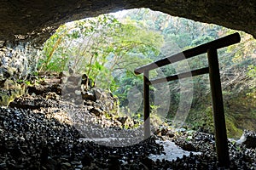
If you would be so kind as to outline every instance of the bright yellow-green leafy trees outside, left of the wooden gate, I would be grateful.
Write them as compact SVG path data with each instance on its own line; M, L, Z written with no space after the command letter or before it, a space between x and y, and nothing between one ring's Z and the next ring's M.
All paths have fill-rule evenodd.
M133 71L160 53L163 37L132 20L121 23L111 14L61 26L44 44L40 71L86 73L94 84L115 90L113 71Z

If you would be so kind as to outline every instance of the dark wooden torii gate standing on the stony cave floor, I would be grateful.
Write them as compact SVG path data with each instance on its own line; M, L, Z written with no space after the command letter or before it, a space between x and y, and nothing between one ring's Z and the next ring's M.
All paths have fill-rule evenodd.
M207 42L199 45L195 48L190 48L181 53L174 54L170 57L160 59L154 63L143 65L135 69L135 74L139 75L143 73L143 99L144 99L144 138L150 136L150 105L149 105L149 86L160 82L170 82L173 80L195 77L197 75L209 73L211 93L212 93L212 111L213 111L213 122L215 128L215 140L216 140L216 151L218 157L219 167L230 167L230 155L228 148L228 139L226 133L225 117L224 117L224 104L223 96L219 75L218 65L218 52L219 48L224 48L240 42L241 37L239 33L234 33L226 37L219 38L212 42ZM154 80L149 80L149 71L159 68L164 65L170 65L183 59L189 59L199 54L207 53L208 67L197 69L194 71L183 72L170 77L164 77Z

